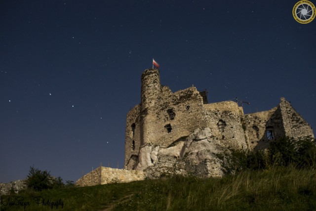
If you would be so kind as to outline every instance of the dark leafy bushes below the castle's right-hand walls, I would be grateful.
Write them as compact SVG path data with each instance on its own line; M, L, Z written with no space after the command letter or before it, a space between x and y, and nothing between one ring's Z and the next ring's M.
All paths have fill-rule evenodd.
M316 140L312 137L294 139L283 137L272 141L266 150L233 150L226 159L226 173L243 169L258 170L271 167L316 167Z

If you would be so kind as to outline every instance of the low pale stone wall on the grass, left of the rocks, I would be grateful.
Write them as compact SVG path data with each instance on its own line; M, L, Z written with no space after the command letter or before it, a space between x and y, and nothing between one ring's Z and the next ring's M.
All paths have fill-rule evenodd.
M144 180L145 173L140 170L125 170L99 167L78 179L78 186L93 186L109 183L123 183Z

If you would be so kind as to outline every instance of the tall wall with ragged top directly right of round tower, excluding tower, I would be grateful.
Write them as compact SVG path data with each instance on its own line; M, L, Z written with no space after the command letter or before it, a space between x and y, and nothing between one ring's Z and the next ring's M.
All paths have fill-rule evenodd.
M204 115L203 98L195 87L175 93L162 87L152 120L151 144L168 147L185 139L195 128L206 127Z

